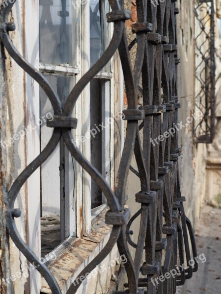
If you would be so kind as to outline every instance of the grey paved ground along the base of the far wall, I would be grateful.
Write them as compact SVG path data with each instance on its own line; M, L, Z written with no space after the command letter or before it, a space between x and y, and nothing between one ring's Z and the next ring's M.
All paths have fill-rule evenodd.
M221 294L221 209L203 208L195 239L197 255L204 254L206 262L199 262L198 271L186 281L182 293Z

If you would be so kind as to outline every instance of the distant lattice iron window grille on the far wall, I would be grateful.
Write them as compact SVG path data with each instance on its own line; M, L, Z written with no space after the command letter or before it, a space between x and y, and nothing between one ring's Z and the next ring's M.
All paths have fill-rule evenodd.
M195 111L199 111L201 116L194 127L194 141L209 144L213 142L215 131L216 66L213 0L196 0L195 29Z

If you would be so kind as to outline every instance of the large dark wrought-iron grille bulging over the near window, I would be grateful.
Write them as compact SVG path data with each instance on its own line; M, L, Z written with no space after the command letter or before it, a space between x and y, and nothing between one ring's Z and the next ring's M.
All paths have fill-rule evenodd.
M18 65L39 83L49 97L55 113L54 120L47 122L48 127L54 128L48 145L18 176L8 191L5 203L7 228L19 250L29 262L38 266L37 270L46 279L52 293L60 294L61 291L55 277L46 265L40 263L38 257L19 235L14 219L20 217L21 211L14 209L14 203L22 185L52 154L62 136L73 157L90 174L106 196L110 206L110 211L106 214L106 223L113 225L107 245L79 276L86 276L86 273L93 270L117 243L119 253L124 254L127 258L125 269L128 283L124 286L128 290L115 293L175 294L176 286L183 285L185 279L192 277L193 271L197 270L197 264L180 271L174 278L165 279L164 282L158 280L158 283L153 283L152 281L176 269L179 266L177 262L182 265L186 259L188 263L191 260L191 252L193 252L193 258L196 257L193 229L191 222L185 216L183 206L185 197L181 196L179 185L178 157L181 149L177 145L176 128L172 128L178 123L178 109L180 108L177 96L177 67L180 61L177 57L175 18L179 11L175 7L176 0L160 1L158 5L152 0L137 0L138 22L132 25L132 31L137 36L128 48L125 20L131 18L131 12L124 10L123 1L110 0L109 2L111 12L107 14L107 21L114 22L110 46L72 89L63 107L60 98L46 78L28 64L9 37L8 32L15 30L14 23L8 23L8 16L14 3L7 3L6 7L1 6L0 40L3 46ZM134 69L132 69L129 49L132 49L136 43L137 55ZM84 87L109 62L117 49L124 73L128 109L124 110L127 131L117 186L113 193L103 176L72 144L71 129L76 128L77 119L72 118L71 115ZM142 84L142 89L139 83ZM138 91L143 99L143 105L139 109ZM160 140L154 140L155 138ZM130 166L133 153L136 157L138 171ZM131 219L129 209L124 209L129 169L135 172L140 179L140 191L138 189L135 201L140 203L141 207ZM135 243L130 237L133 234L130 226L138 216L140 217L139 235ZM189 244L188 236L191 244ZM136 248L134 260L128 243ZM144 261L143 253L145 253ZM179 256L178 261L177 255ZM82 281L82 279L77 279ZM76 293L80 285L81 282L72 284L69 289L70 293Z

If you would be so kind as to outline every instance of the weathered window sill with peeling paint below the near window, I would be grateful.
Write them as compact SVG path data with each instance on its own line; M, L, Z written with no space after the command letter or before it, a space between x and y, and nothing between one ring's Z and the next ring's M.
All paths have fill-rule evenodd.
M105 224L105 214L108 209L104 209L92 221L91 237L81 239L70 237L65 242L67 244L65 249L61 249L64 246L59 245L53 250L54 255L59 256L55 261L48 262L47 265L54 275L62 294L66 294L72 281L107 244L112 227ZM44 278L42 278L41 293L52 293Z

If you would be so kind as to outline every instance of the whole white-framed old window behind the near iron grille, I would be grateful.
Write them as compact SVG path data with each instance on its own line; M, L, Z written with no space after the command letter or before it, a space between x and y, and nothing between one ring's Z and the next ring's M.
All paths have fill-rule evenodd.
M84 9L71 0L40 0L39 4L40 70L65 102L74 85L110 43L112 24L106 22L110 5L107 0L86 2ZM112 77L113 59L85 87L79 98L73 113L73 117L78 118L73 137L74 144L113 188ZM43 90L40 91L42 116L53 118L53 108ZM42 123L41 151L52 132L53 129ZM41 167L42 256L69 236L89 236L91 218L105 207L105 203L100 188L82 171L61 139Z

